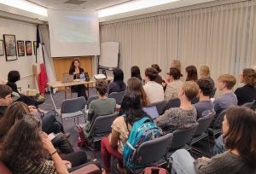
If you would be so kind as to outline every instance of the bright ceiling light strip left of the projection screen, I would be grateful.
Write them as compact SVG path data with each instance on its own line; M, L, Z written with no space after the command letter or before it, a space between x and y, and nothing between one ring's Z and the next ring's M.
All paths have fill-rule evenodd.
M0 3L3 3L4 5L9 5L11 7L17 8L17 9L23 9L25 11L32 12L34 14L40 14L47 16L47 9L44 7L41 7L35 3L30 3L25 0L0 0Z

